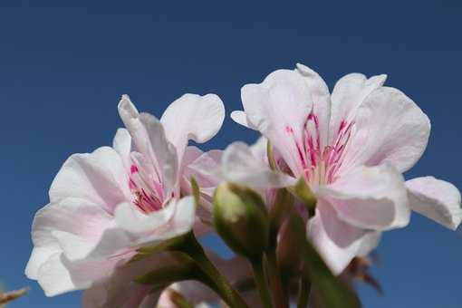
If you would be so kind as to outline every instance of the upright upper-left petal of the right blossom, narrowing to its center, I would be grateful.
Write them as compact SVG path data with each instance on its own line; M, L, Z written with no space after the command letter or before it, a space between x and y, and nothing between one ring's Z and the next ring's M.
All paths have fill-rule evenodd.
M278 149L296 176L303 174L297 145L313 101L303 76L290 70L270 73L260 84L246 84L241 99L247 120Z

